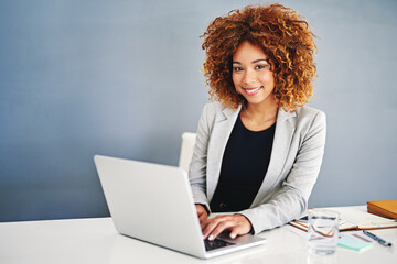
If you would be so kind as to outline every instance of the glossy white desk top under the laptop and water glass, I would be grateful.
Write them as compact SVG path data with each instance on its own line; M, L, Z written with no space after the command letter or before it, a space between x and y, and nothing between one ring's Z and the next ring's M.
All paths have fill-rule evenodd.
M394 243L358 253L339 248L332 256L308 253L305 240L286 227L260 234L267 244L200 260L117 233L110 218L0 223L0 263L397 263L397 229L374 233Z

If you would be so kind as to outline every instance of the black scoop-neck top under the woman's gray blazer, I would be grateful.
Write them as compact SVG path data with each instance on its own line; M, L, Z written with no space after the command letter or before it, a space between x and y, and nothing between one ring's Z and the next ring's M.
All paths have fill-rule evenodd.
M250 207L269 166L275 130L276 123L264 131L250 131L238 116L210 204L212 211L240 211Z

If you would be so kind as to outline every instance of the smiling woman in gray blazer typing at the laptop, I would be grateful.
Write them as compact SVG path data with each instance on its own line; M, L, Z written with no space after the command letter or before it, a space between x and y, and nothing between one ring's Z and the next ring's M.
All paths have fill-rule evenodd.
M203 37L214 102L201 116L189 175L204 239L285 224L307 209L324 153L325 114L304 107L313 34L296 11L271 4L217 18Z

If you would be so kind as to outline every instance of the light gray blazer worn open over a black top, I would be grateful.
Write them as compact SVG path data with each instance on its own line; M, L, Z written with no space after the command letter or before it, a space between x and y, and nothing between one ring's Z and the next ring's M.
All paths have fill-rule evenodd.
M197 129L189 178L196 204L210 208L221 174L223 153L240 112L219 102L205 105ZM268 170L249 209L254 232L282 226L300 216L320 172L325 146L325 113L301 107L277 116ZM242 175L244 177L244 175Z

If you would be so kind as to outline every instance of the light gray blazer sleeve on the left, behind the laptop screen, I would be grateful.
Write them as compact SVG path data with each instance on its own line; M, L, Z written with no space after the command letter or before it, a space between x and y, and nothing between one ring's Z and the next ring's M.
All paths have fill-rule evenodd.
M211 103L204 106L198 121L192 161L189 166L189 179L193 191L194 202L206 206L208 211L211 209L206 195L206 164L212 128L210 123L212 122L211 119L214 119L211 114Z

